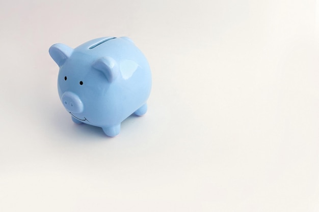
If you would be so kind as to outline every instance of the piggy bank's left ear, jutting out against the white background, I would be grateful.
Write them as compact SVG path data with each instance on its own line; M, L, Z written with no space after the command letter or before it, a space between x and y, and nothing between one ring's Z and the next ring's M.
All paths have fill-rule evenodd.
M71 56L73 49L64 45L62 43L57 43L52 45L49 48L49 54L53 60L58 64L58 66L62 66L65 61Z

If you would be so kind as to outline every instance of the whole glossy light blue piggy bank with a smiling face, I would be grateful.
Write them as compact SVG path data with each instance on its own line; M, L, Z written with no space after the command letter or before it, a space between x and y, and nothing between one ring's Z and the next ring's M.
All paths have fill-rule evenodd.
M59 96L74 123L114 137L125 118L146 113L150 67L129 38L98 38L75 49L54 44L49 54L60 68Z

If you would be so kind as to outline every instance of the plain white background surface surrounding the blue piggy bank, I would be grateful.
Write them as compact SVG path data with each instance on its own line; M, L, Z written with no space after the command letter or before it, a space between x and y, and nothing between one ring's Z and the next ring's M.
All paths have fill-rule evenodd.
M319 211L316 2L0 2L0 211ZM75 125L48 48L128 36L149 110Z

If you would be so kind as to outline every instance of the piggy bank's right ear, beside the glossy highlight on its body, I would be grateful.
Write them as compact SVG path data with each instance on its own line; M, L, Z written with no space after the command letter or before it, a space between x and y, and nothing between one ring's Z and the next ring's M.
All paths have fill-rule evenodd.
M118 65L112 57L101 57L92 66L101 71L109 82L113 82L119 74Z

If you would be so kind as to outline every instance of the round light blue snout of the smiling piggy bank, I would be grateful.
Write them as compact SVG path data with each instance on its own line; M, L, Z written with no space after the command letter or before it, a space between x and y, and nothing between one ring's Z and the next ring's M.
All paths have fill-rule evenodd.
M81 99L72 92L65 92L62 95L62 103L69 112L81 113L83 111Z

